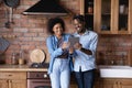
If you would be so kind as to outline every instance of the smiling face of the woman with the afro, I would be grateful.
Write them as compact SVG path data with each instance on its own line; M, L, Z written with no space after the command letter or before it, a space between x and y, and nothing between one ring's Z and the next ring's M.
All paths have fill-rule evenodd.
M53 26L53 32L54 34L57 36L57 37L61 37L62 34L63 34L63 26L61 23L56 23L54 26Z

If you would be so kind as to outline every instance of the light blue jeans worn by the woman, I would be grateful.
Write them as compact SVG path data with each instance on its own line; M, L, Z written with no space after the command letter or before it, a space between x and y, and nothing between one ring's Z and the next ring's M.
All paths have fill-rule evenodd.
M68 59L55 58L50 78L52 88L69 88L70 69Z

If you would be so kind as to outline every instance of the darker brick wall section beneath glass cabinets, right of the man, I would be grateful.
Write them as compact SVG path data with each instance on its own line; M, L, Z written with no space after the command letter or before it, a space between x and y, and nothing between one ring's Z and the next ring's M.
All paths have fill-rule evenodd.
M99 35L97 48L97 64L128 65L130 50L132 50L132 35Z

